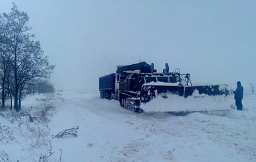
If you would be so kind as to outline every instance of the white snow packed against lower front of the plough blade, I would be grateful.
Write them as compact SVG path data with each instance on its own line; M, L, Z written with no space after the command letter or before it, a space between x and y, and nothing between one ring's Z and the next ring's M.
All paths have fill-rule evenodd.
M208 96L208 95L192 95L191 97L180 97L178 95L165 94L156 95L152 101L142 104L141 108L145 112L195 112L195 111L211 111L211 110L230 110L231 99L233 97ZM211 104L209 104L211 103Z

